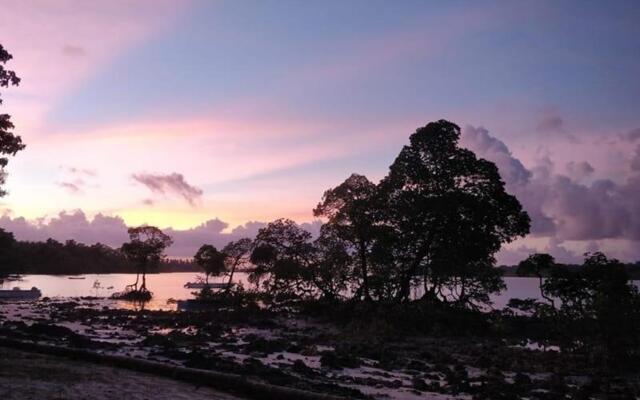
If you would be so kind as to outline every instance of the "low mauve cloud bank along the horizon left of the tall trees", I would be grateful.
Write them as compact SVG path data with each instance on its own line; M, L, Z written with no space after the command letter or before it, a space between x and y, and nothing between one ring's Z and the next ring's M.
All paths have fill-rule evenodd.
M232 240L248 237L254 238L265 222L251 221L226 231L229 227L220 219L208 220L191 229L163 228L173 238L173 245L167 249L171 257L192 257L203 244L213 244L217 248L224 247ZM301 223L300 227L317 236L320 221ZM81 211L61 212L48 220L26 220L23 217L11 217L5 213L0 217L0 228L13 232L16 239L28 241L44 241L49 238L64 242L75 240L79 243L103 243L111 247L120 247L128 240L128 226L119 216L98 214L93 219Z

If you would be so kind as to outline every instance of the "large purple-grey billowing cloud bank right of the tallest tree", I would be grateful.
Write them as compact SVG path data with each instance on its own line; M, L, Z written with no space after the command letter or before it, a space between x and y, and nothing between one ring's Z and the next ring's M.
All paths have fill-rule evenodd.
M536 167L525 168L503 142L483 128L465 128L461 143L496 163L507 190L531 215L533 235L559 241L640 240L640 174L633 173L633 161L626 180L597 179L587 184L576 176L556 173L548 158ZM573 164L572 168L581 178L594 170L587 163Z

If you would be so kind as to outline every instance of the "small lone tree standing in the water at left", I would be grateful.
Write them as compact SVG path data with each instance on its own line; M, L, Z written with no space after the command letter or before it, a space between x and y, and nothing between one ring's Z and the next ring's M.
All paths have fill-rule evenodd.
M128 233L130 241L122 245L121 251L137 267L138 271L130 297L150 299L151 293L147 290L146 274L158 266L164 257L164 250L171 246L173 241L171 237L155 226L129 228ZM142 275L142 283L138 287L140 275Z

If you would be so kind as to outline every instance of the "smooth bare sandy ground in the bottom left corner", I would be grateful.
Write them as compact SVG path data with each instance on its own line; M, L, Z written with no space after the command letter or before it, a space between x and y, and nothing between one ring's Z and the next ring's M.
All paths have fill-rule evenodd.
M0 399L238 400L209 388L0 347Z

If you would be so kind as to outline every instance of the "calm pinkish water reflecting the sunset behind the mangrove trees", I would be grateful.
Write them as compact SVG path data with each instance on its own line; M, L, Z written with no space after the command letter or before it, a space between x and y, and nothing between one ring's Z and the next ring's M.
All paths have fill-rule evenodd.
M77 277L77 276L74 276ZM20 287L30 289L35 286L42 291L45 297L82 297L96 296L108 297L115 292L122 291L126 285L136 280L135 274L88 274L80 275L85 279L69 279L66 275L25 275L21 281L4 282L2 288L9 289ZM185 289L184 284L196 281L198 274L193 272L175 272L167 274L147 275L147 287L154 294L154 299L147 304L150 309L175 309L175 304L167 303L169 299L183 300L193 298L194 289ZM242 282L245 287L250 287L246 273L236 273L234 282ZM503 308L509 299L539 298L537 278L504 278L507 290L498 296L492 296L494 307ZM222 279L212 279L212 282L223 282ZM98 282L98 288L94 284ZM118 306L127 307L127 302L117 302Z

